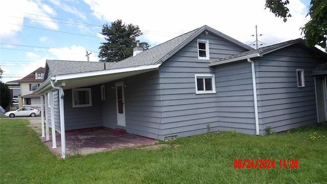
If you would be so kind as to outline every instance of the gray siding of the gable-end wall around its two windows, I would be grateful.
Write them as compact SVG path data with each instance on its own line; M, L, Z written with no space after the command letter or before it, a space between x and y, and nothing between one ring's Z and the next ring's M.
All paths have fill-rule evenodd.
M198 59L197 39L209 41L210 60ZM195 74L214 74L210 61L241 52L228 41L201 34L160 66L164 138L219 130L217 94L196 94Z

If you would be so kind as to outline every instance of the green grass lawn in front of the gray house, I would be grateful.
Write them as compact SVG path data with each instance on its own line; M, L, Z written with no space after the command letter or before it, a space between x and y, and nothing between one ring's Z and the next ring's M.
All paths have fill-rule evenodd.
M0 183L326 183L327 126L267 136L181 137L158 150L126 148L61 159L24 119L1 119ZM319 137L320 135L320 137ZM178 146L176 146L178 145ZM274 159L274 169L235 169L234 159ZM297 159L297 169L279 168Z

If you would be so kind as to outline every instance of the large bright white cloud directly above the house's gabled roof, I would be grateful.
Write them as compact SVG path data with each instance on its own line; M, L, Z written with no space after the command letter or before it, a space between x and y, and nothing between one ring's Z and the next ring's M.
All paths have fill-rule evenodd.
M307 21L306 13L303 13L306 6L298 0L293 1L295 3L290 5L293 17L284 23L268 9L265 10L265 1L262 0L210 0L201 3L84 0L93 11L92 15L99 19L109 22L122 19L126 24L138 25L150 44L162 43L203 25L248 44L255 40L250 37L255 34L255 25L258 25L258 34L263 34L260 39L266 44L296 39L301 37L299 28Z

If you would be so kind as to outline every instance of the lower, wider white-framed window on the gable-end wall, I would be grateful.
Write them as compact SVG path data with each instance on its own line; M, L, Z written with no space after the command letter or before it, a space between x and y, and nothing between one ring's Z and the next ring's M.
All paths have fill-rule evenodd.
M214 74L195 74L194 78L196 94L216 93L216 82Z

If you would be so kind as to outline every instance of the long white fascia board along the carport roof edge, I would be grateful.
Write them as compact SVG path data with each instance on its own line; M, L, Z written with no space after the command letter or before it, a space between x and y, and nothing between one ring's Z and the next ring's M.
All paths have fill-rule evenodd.
M100 75L118 74L118 73L124 73L124 72L158 69L160 65L161 65L161 63L153 64L153 65L144 65L144 66L136 66L136 67L94 71L94 72L84 72L84 73L78 73L78 74L66 74L66 75L54 76L51 78L53 80L55 80L55 82L57 82L57 81L66 80L66 79L76 79L76 78L83 78L83 77L90 77L90 76L100 76Z

